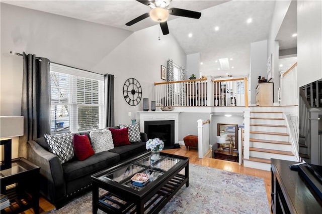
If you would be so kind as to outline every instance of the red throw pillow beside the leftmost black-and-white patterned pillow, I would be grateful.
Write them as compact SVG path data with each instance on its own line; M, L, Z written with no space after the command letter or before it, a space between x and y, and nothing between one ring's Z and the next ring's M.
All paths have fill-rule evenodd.
M72 142L74 144L74 154L78 160L85 160L94 154L89 137L75 134Z

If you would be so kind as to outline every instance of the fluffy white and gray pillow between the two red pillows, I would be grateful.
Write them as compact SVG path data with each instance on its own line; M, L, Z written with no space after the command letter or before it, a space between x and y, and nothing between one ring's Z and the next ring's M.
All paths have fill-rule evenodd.
M90 132L90 138L94 153L114 149L112 133L110 130L103 129Z

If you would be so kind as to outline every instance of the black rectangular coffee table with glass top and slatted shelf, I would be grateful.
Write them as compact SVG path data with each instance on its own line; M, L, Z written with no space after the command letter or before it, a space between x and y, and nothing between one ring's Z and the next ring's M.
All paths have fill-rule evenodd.
M93 213L158 213L184 184L189 186L188 157L150 157L147 152L92 175ZM99 195L100 188L107 193Z

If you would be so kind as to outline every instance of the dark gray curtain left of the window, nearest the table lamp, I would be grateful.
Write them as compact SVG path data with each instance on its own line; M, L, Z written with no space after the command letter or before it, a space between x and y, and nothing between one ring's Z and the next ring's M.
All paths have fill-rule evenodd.
M49 60L23 53L21 115L24 136L19 137L18 156L27 156L27 141L50 133Z

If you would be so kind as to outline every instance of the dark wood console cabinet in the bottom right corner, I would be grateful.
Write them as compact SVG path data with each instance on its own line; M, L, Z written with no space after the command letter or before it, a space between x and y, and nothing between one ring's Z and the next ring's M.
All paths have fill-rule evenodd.
M271 159L273 213L322 213L322 201L302 176L289 165L297 162Z

